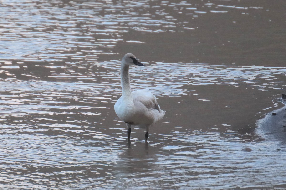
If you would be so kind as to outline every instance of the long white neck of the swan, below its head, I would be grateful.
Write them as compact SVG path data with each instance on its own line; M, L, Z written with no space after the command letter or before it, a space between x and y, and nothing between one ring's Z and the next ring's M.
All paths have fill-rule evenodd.
M130 87L130 79L129 79L129 65L121 63L121 85L122 85L122 97L126 101L129 101L133 104L133 98L131 93L131 87Z

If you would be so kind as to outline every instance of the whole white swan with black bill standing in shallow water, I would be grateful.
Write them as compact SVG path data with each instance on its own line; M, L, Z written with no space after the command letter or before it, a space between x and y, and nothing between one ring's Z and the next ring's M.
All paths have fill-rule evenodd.
M120 71L122 96L115 103L114 110L116 115L126 123L128 140L133 125L146 129L145 140L147 141L150 127L164 117L165 111L160 109L156 97L148 92L148 89L131 92L130 65L145 67L133 54L128 53L122 58Z

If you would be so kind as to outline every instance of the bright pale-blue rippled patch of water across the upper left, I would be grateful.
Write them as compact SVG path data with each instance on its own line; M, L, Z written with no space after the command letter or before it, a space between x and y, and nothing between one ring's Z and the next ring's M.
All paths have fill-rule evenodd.
M122 40L122 34L132 30L157 33L168 32L170 28L178 30L195 28L193 24L180 21L180 14L190 14L188 11L196 10L194 12L199 14L209 11L212 13L228 12L209 10L209 7L202 9L197 4L192 5L183 1L180 3L169 1L166 3L150 1L82 3L73 1L68 4L36 0L31 3L13 2L3 1L0 9L5 18L1 21L2 28L0 28L0 40L2 41L0 55L5 59L36 63L57 60L43 53L47 50L58 53L59 57L65 57L58 60L68 59L69 52L80 52L83 47L87 48L86 50L103 50L105 53L111 53L112 50L106 48L114 47ZM215 3L206 4L217 6L216 8L219 9L248 8ZM173 8L165 9L166 5ZM123 9L124 7L130 7L130 10ZM260 10L262 7L249 8ZM144 12L138 12L138 9ZM153 9L156 9L154 13ZM176 9L181 9L181 11L178 13ZM156 18L156 15L160 18ZM193 16L197 18L197 15ZM108 36L108 39L102 41L96 36ZM87 43L90 46L86 46Z

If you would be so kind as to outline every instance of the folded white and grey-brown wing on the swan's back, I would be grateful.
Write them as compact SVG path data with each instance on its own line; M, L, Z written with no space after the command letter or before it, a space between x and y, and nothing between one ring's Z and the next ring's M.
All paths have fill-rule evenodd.
M143 90L136 90L132 92L132 97L134 102L142 103L148 110L156 109L161 112L160 106L156 101L156 97L148 92L148 88Z

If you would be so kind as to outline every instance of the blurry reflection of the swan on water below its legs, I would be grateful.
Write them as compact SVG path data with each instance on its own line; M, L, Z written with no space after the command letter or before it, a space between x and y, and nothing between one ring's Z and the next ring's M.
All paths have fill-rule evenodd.
M157 164L160 148L148 146L148 142L131 143L126 150L119 155L118 161L113 166L112 175L117 189L132 189L138 184L136 179L144 179L146 183L158 179L162 175L160 165Z

